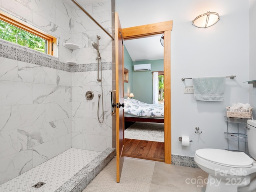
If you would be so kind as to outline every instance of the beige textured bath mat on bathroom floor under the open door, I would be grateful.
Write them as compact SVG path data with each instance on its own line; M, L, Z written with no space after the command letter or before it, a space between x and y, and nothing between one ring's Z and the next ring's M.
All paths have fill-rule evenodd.
M88 184L83 192L148 192L155 162L124 158L120 183L116 182L116 158Z

